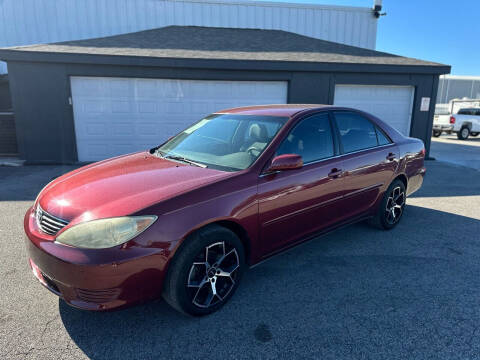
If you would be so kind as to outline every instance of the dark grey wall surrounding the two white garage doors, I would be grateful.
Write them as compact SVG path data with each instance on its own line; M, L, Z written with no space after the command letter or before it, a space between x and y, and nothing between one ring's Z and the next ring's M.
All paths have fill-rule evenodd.
M335 84L415 86L411 136L430 147L438 75L214 70L9 62L17 138L21 158L30 163L77 161L73 109L69 104L70 76L110 76L205 80L288 81L289 103L332 104ZM422 97L431 97L430 111L420 112Z

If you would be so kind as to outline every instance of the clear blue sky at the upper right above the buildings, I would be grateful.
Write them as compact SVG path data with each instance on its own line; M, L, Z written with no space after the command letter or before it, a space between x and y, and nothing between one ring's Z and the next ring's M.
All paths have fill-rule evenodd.
M276 1L373 6L373 0ZM448 64L455 75L480 75L479 0L383 0L383 11L377 50Z

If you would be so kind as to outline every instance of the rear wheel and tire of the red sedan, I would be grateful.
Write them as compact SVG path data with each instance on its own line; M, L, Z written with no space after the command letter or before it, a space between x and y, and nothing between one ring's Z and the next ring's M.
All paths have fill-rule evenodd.
M398 197L396 198L396 196ZM390 184L387 191L385 191L377 213L371 219L370 223L379 229L393 229L402 218L405 210L405 201L405 185L403 181L396 179Z

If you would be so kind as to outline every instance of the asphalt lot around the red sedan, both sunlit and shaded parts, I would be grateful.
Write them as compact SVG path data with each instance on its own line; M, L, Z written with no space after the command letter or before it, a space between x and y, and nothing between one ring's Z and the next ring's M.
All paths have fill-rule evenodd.
M478 159L478 158L477 158ZM23 215L71 167L0 167L1 359L478 359L480 172L427 162L390 232L356 224L261 264L232 301L188 318L158 300L65 305L27 265Z

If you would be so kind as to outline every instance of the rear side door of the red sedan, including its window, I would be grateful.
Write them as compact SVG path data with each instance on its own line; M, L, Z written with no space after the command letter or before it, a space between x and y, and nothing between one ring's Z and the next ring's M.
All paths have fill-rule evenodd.
M365 116L334 111L343 166L339 220L365 214L388 187L399 161L398 147Z

